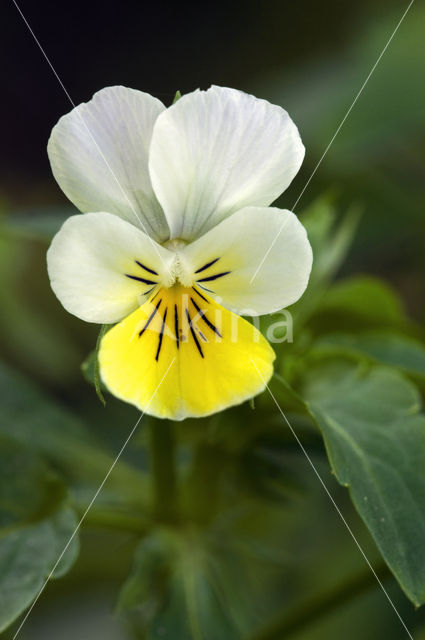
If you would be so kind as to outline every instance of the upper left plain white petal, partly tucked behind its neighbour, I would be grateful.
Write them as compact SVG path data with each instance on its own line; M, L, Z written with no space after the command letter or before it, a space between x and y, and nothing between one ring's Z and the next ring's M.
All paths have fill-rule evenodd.
M148 153L164 109L148 93L107 87L63 116L47 147L59 186L80 211L115 213L159 242L169 229L152 190Z

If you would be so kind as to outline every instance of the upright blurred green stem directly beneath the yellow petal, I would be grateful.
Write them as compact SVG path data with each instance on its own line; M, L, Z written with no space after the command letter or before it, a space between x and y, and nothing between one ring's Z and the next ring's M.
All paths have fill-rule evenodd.
M177 517L177 474L173 423L158 420L150 425L153 515L160 522Z

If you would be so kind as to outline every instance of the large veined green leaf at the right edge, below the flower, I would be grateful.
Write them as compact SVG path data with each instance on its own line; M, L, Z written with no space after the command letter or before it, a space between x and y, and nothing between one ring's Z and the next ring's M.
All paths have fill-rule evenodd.
M304 397L332 469L401 587L425 602L425 417L399 373L344 363L310 371Z

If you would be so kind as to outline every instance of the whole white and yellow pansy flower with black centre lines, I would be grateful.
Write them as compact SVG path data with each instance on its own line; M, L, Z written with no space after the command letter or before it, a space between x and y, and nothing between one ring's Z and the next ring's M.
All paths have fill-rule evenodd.
M51 285L102 338L100 374L152 415L205 416L260 393L274 351L242 315L304 292L305 229L269 207L304 157L281 107L211 87L168 109L109 87L62 117L54 176L82 212L48 251Z

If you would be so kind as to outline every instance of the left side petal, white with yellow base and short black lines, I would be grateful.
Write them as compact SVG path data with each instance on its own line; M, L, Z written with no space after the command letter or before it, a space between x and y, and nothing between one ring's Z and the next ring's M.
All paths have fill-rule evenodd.
M47 267L67 311L87 322L112 324L143 304L155 283L169 282L174 258L129 222L97 212L66 220L47 252Z

